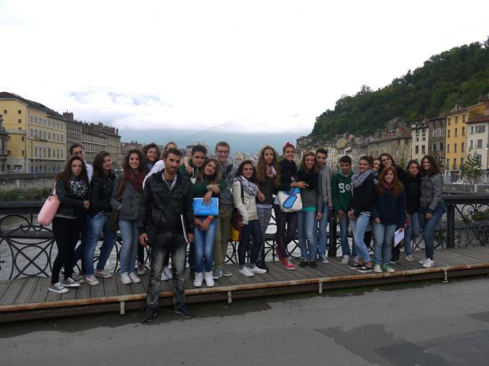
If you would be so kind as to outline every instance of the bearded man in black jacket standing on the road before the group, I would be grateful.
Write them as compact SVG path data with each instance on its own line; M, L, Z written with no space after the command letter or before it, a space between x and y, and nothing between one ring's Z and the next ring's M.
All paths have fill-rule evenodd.
M173 304L175 313L192 318L185 306L185 251L192 243L194 212L192 183L177 173L181 154L176 149L165 152L165 169L151 175L146 181L138 214L139 241L151 244L151 271L144 321L150 322L158 314L160 304L161 272L167 251L172 255ZM183 227L182 226L183 221ZM187 238L185 238L185 234Z

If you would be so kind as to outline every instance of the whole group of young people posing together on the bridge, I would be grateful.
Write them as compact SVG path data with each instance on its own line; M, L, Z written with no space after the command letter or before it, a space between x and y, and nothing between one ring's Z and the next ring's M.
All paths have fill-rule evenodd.
M244 160L235 167L229 160L230 145L218 142L216 158L207 158L207 148L195 145L190 157L182 158L174 142L163 152L149 144L143 150L129 150L123 173L116 176L108 152L99 152L92 165L85 161L83 146L74 144L66 167L56 177L55 197L60 202L53 219L58 248L52 266L49 291L64 293L86 281L97 286L105 271L120 230L120 281L140 282L150 267L147 307L144 320L158 313L161 281L173 278L175 312L190 318L185 305L184 277L188 265L194 286L205 281L232 276L225 268L230 233L238 226L239 273L255 276L266 273L264 236L274 211L275 239L280 263L295 270L287 246L297 237L302 254L299 267L315 268L327 258L328 216L337 217L341 231L341 263L360 271L394 271L399 246L392 251L396 230L404 231L404 252L413 261L411 239L425 239L426 258L421 265L433 266L433 232L443 214L443 179L436 160L427 155L408 162L406 171L396 166L391 155L379 159L361 157L356 172L351 158L341 157L339 172L326 165L327 151L306 152L297 167L295 147L287 142L282 160L273 147L265 146L256 163ZM302 205L297 211L284 210L279 192L299 192ZM218 198L217 214L195 216L194 199L210 204ZM353 232L353 247L348 229ZM369 246L374 232L374 263ZM103 234L96 268L94 253ZM81 244L76 246L79 239ZM252 240L250 240L252 239ZM150 247L150 263L145 263L145 247ZM249 253L247 258L247 253ZM171 269L170 269L171 257ZM248 260L247 260L248 259ZM81 273L73 268L81 260ZM60 280L61 268L64 270Z

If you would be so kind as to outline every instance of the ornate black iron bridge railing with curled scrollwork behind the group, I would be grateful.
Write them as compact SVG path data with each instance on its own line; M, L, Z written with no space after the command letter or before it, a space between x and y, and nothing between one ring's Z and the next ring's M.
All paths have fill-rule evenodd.
M489 195L447 195L446 219L442 219L435 232L435 247L447 248L481 246L489 241ZM0 202L0 279L26 276L51 276L54 246L50 227L41 226L36 215L43 202ZM274 215L265 235L265 258L275 260ZM341 242L336 221L329 217L328 255L336 256L341 251ZM351 238L351 234L350 234ZM113 271L118 268L120 236L113 254ZM413 241L413 249L423 249L423 237ZM292 258L300 258L299 242L296 239L287 247ZM98 257L95 258L95 261ZM230 242L227 263L237 262L237 243ZM146 251L145 263L149 263Z

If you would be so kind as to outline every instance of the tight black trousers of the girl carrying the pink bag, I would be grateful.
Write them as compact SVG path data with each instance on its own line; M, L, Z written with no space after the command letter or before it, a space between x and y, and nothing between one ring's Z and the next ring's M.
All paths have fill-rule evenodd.
M58 246L58 255L53 263L51 284L59 282L61 267L65 269L65 278L71 277L73 273L73 256L76 243L80 239L83 219L85 216L80 219L63 219L61 217L53 219L53 234L56 246Z

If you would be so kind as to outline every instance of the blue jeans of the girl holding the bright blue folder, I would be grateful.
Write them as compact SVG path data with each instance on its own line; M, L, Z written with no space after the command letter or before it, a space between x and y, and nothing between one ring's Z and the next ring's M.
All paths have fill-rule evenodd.
M199 228L194 230L194 263L195 273L202 273L202 267L206 272L212 271L212 263L214 263L214 239L217 229L217 219L212 219L207 228L207 231L202 231ZM203 266L202 266L203 261Z

